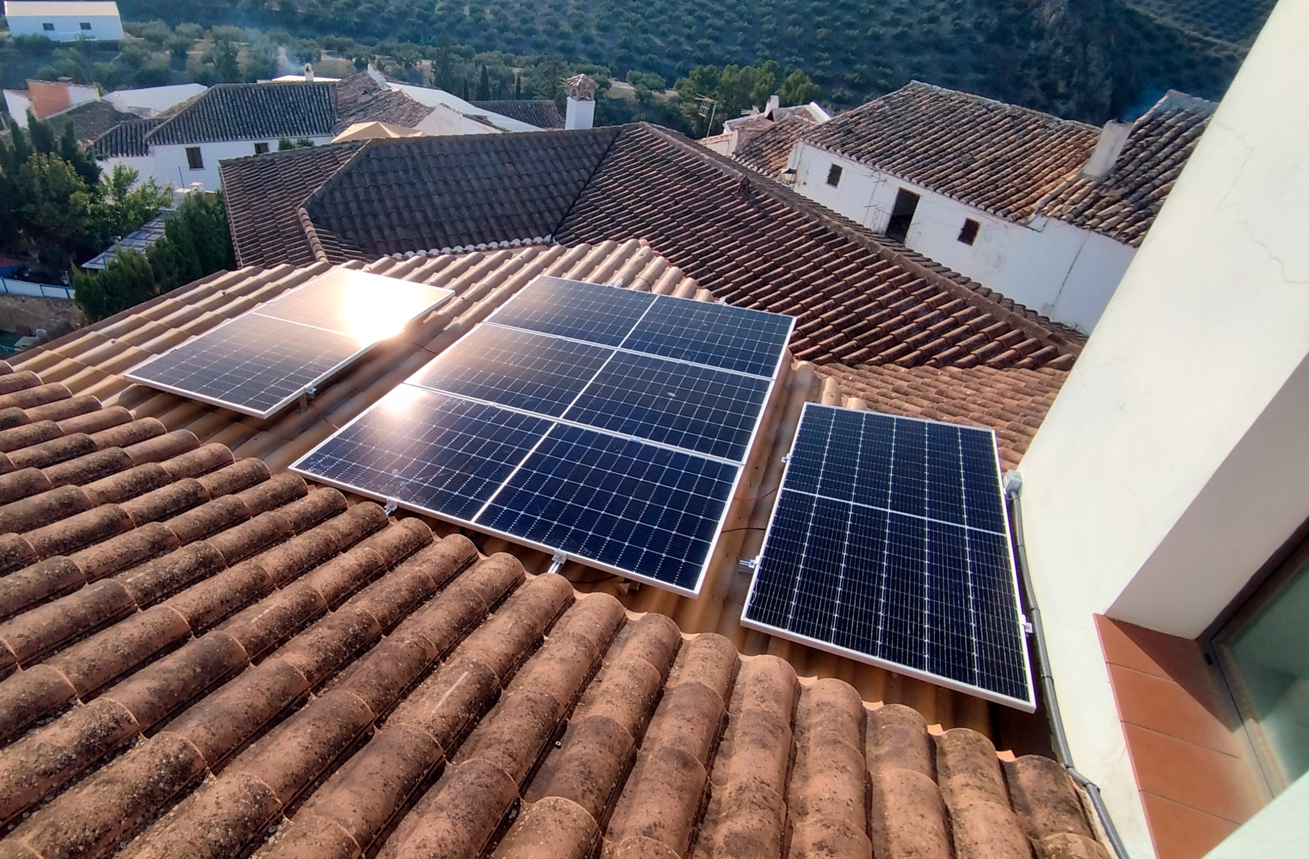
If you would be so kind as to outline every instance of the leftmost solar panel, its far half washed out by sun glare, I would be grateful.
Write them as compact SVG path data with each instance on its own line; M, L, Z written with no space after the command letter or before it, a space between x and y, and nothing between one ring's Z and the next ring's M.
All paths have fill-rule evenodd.
M127 378L268 418L452 295L335 268L151 359Z

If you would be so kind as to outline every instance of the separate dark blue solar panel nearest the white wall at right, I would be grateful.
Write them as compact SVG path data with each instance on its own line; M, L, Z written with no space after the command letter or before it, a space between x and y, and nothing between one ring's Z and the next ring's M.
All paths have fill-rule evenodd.
M741 622L1033 711L995 435L806 403Z

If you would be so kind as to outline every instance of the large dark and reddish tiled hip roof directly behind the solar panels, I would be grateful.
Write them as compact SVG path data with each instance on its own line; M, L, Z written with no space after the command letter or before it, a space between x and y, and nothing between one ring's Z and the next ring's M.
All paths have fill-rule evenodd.
M296 223L270 206L260 182L237 190L240 173L268 170L280 157L223 164L229 211L250 224L304 229L318 258L332 262L546 237L640 238L717 299L798 317L792 348L804 360L1067 368L1084 340L644 123L370 141L305 200ZM242 244L243 265L287 259L247 254Z

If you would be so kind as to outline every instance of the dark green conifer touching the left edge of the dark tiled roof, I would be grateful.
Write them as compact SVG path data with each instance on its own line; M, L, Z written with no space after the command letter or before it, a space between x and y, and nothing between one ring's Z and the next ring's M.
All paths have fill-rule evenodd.
M178 213L164 223L164 236L151 247L151 262L161 292L236 268L223 191L187 194Z

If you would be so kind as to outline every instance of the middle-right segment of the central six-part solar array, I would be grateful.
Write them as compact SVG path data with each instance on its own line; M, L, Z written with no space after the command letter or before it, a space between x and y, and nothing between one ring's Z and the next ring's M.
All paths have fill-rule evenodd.
M742 461L768 384L767 378L618 352L564 418Z

